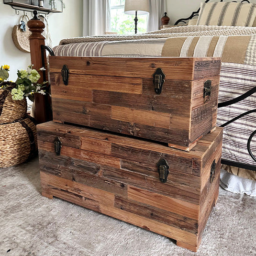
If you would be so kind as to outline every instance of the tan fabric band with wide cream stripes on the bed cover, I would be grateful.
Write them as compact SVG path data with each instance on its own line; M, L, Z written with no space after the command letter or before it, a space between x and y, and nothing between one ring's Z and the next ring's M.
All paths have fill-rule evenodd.
M167 38L162 56L222 57L222 62L256 66L256 35Z

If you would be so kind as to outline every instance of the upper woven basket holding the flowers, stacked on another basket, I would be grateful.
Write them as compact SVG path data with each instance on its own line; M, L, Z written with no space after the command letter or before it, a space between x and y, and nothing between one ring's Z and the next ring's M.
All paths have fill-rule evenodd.
M17 119L23 119L27 114L27 100L12 100L11 89L16 84L12 82L3 82L0 85L8 85L7 89L0 89L0 124L14 122Z

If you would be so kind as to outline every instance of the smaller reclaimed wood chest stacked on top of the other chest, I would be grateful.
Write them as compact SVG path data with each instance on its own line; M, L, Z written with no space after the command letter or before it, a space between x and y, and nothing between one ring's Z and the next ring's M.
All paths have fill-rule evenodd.
M50 57L55 122L190 150L215 129L220 58Z

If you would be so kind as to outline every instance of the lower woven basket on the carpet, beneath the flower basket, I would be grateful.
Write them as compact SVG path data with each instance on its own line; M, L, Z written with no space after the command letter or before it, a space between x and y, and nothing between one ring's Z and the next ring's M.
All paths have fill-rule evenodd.
M36 126L27 117L0 124L0 168L21 164L37 154Z

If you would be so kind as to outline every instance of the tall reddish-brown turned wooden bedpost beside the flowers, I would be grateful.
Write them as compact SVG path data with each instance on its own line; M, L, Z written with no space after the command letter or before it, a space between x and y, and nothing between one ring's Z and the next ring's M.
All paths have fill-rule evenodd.
M41 45L45 45L45 37L42 35L45 23L42 22L38 17L37 11L33 11L34 17L28 22L29 30L32 34L29 37L30 40L30 56L31 56L31 63L33 64L33 68L39 69L43 67L42 62L42 53L41 53ZM46 54L44 53L45 63L46 61ZM47 65L45 65L45 74L47 79ZM41 78L38 83L42 83L43 73L39 71ZM46 91L50 91L50 86L47 86ZM47 122L52 120L52 110L51 110L51 98L49 95L42 95L39 93L34 94L34 104L35 104L35 112L34 117L37 123Z

